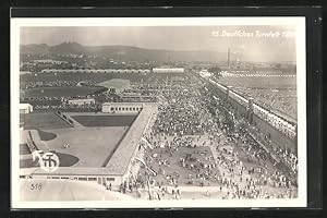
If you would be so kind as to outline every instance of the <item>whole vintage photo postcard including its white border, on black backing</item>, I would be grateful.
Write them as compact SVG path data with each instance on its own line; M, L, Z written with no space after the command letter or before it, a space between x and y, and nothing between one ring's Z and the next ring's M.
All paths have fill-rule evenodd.
M13 208L306 206L304 17L11 33Z

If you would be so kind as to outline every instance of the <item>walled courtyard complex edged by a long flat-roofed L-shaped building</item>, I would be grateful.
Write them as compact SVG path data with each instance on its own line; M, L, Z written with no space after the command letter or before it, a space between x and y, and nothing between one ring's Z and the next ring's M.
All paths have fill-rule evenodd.
M129 107L133 106L135 104L129 104ZM143 149L138 142L145 129L149 128L154 112L155 106L152 104L143 104L141 111L129 114L57 111L58 119L69 126L47 130L48 134L56 135L52 140L45 138L43 131L21 130L21 145L27 145L32 152L55 150L60 158L60 167L51 173L38 167L27 168L28 164L31 167L35 162L32 154L23 152L25 155L21 155L21 167L25 170L21 178L96 181L99 184L120 185L133 177L133 160Z

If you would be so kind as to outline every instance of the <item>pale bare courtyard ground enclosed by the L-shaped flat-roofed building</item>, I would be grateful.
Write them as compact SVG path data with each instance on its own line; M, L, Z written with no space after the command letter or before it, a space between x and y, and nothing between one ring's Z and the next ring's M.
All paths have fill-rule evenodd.
M56 153L78 158L80 161L75 165L77 167L101 167L106 158L112 155L125 131L121 126L57 129L49 131L57 137L46 143ZM70 146L64 148L65 144Z

